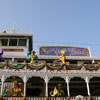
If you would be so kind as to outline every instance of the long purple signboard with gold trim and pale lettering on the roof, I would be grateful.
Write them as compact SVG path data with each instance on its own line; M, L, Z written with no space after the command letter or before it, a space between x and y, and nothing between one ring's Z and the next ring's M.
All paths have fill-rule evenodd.
M62 50L65 51L65 56L90 56L88 48L68 46L41 46L39 55L61 56Z

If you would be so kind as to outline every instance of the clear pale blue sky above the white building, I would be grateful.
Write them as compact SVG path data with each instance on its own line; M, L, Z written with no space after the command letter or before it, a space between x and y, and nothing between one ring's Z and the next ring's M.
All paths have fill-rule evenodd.
M100 0L0 0L0 31L33 32L33 49L61 45L91 48L100 57Z

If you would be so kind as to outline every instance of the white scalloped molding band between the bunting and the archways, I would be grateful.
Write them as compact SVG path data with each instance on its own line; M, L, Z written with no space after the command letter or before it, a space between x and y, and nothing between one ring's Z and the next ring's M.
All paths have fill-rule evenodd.
M4 76L3 76L4 75ZM68 71L50 71L50 70L9 70L9 69L4 69L0 70L0 78L1 80L6 80L8 77L11 76L18 76L23 79L23 81L27 81L31 77L40 77L43 78L45 81L53 78L53 77L61 77L64 78L65 81L67 80L66 77L68 78L68 81L74 77L81 77L84 80L86 80L86 77L90 80L93 77L100 77L100 71L84 71L84 70L68 70Z

